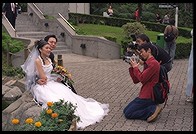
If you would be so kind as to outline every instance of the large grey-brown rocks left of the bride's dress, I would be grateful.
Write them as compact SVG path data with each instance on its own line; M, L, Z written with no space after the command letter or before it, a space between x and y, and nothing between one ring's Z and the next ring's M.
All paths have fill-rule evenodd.
M33 101L33 96L25 90L24 79L2 78L2 101L10 105L2 111L2 131L11 131L11 120L24 121L28 117L37 118L42 108Z

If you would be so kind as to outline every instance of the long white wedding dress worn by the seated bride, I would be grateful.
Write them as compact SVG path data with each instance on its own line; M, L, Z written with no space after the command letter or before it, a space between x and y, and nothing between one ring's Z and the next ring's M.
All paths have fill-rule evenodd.
M54 81L51 76L53 69L52 63L43 65L44 72L47 76L47 84L36 84L33 87L34 97L38 102L42 102L43 108L47 107L47 102L57 102L60 99L71 102L76 105L75 114L80 117L80 122L77 122L77 128L85 128L86 126L95 124L103 119L108 114L109 104L101 104L92 98L83 98L71 91L70 88L62 83Z

